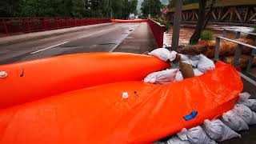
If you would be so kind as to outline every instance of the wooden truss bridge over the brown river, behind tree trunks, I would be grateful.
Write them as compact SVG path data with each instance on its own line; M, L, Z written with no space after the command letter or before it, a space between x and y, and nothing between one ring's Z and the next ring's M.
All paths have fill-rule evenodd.
M207 1L206 11L211 1ZM182 22L198 21L198 3L182 6ZM235 26L252 26L256 19L256 1L254 0L217 0L210 14L209 22ZM166 20L174 21L174 8L169 8Z

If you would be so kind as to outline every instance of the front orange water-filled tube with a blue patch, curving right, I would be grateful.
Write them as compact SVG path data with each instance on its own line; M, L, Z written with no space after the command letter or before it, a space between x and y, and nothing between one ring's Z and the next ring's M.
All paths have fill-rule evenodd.
M233 66L169 85L117 82L0 110L2 144L150 143L218 118L242 91ZM123 98L126 92L128 98ZM127 95L126 95L127 96ZM198 115L186 121L191 111Z

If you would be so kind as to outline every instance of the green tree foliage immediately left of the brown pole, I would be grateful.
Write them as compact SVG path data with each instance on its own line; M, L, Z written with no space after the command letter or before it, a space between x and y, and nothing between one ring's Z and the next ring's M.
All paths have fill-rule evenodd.
M142 2L142 14L147 16L147 14L151 14L151 16L156 16L161 14L162 3L159 0L144 0Z

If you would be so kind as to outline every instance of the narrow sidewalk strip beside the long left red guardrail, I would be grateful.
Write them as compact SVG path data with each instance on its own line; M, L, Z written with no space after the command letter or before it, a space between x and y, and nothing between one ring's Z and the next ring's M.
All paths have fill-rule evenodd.
M46 38L46 37L50 37L58 34L66 34L70 32L76 32L79 30L94 28L96 26L106 26L110 24L112 23L102 23L102 24L89 25L89 26L76 26L76 27L58 29L58 30L46 30L46 31L29 33L29 34L12 35L12 36L0 38L0 45L10 45L18 42L26 42L34 39Z

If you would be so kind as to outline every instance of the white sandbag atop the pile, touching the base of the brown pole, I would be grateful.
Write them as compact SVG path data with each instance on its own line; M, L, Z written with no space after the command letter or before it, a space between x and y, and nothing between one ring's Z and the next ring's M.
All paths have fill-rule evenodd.
M176 58L176 54L177 52L175 51L170 52L166 48L158 48L149 53L149 55L157 57L164 62L167 62L168 60L170 60L170 62L174 61L174 59Z

